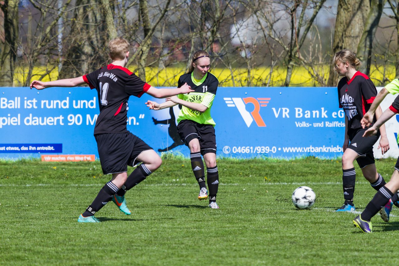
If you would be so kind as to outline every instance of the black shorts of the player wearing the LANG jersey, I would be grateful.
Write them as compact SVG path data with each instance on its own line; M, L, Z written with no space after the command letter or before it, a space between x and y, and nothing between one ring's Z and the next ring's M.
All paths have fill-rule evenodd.
M364 168L370 164L374 164L373 145L377 142L380 133L379 131L374 136L363 137L364 132L367 129L359 129L352 139L350 138L350 144L348 149L354 150L360 157L356 159L360 168Z

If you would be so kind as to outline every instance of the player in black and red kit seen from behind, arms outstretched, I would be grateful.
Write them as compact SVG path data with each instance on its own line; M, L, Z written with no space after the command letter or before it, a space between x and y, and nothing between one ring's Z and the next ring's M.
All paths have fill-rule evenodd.
M57 81L33 81L30 85L41 90L48 87L75 87L87 83L90 89L97 90L100 114L94 128L101 167L104 174L112 174L112 179L100 190L93 203L79 215L80 223L99 223L94 217L105 204L112 200L126 215L124 194L161 166L162 160L144 141L126 128L128 99L131 95L141 97L147 93L155 98L164 98L181 93L190 93L190 86L178 89L157 89L130 72L125 65L129 56L130 44L119 37L109 42L109 56L113 62L105 67L73 79ZM127 166L139 166L128 176Z

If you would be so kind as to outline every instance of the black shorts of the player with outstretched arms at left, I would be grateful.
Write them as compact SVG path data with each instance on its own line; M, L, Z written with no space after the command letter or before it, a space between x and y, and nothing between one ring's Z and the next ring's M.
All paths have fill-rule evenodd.
M130 132L105 133L94 136L105 175L127 172L127 166L138 164L137 156L152 150L144 141Z

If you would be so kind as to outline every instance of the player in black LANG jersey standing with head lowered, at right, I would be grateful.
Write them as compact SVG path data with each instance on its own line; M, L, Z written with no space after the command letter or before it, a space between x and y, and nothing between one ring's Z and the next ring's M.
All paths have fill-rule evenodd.
M371 187L379 190L385 185L383 177L377 173L373 155L373 145L381 135L378 148L384 154L389 150L389 142L385 132L385 126L381 126L379 132L370 138L363 138L365 129L362 128L360 120L370 108L377 89L367 75L356 71L360 61L356 54L344 49L335 54L334 70L343 78L338 83L338 100L340 108L345 111L345 138L342 149L342 185L345 202L337 211L355 211L353 195L355 191L356 171L354 161L356 160ZM382 114L378 107L375 115L377 118ZM374 118L375 121L375 118ZM381 134L380 134L381 132Z

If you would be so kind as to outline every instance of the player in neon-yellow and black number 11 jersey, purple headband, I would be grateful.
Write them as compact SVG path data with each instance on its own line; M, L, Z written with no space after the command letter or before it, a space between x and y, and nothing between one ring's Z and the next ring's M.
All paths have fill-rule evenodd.
M219 172L216 166L215 122L210 112L219 81L208 72L209 67L209 54L203 50L196 51L190 61L190 68L178 81L178 87L187 83L194 92L166 98L166 102L162 104L150 100L146 104L153 110L169 108L176 104L182 105L177 119L177 129L180 138L190 148L191 166L199 184L198 199L209 197L209 207L219 209L216 203ZM207 168L209 195L205 185L205 170L201 155Z

